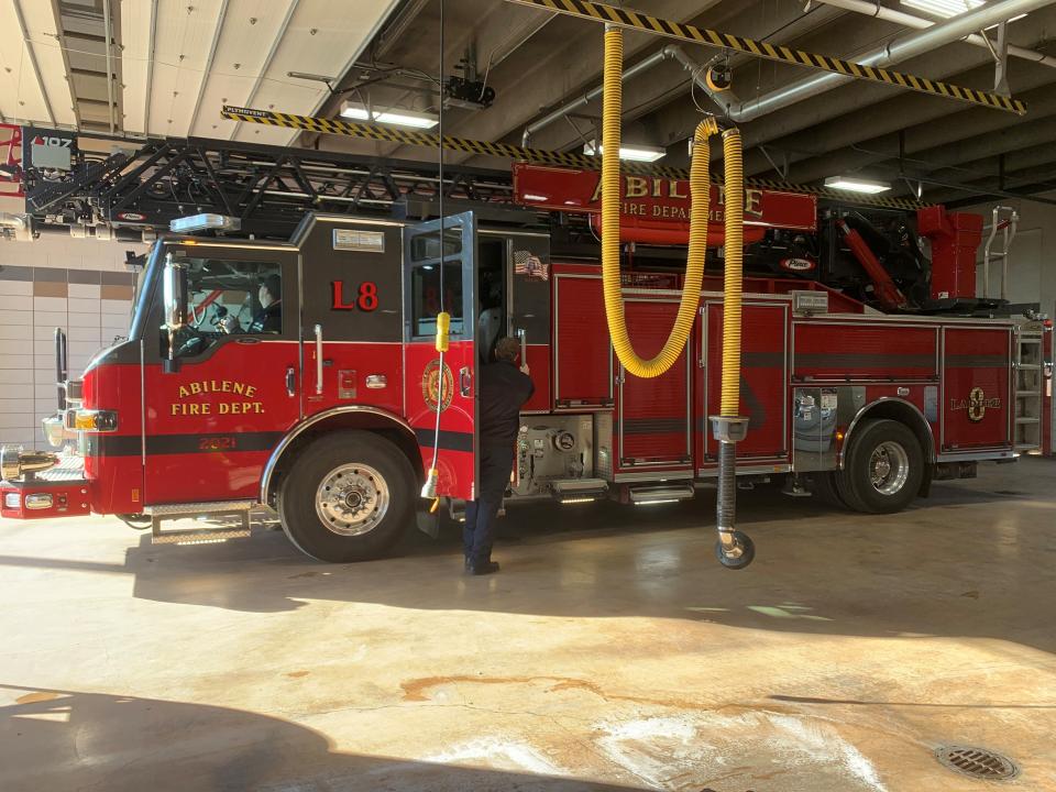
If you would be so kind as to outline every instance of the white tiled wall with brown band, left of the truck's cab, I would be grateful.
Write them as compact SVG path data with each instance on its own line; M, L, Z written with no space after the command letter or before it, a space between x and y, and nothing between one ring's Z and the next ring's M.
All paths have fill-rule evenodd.
M0 443L48 449L41 419L56 408L56 327L68 336L70 376L128 333L134 284L128 250L145 249L62 234L0 241Z

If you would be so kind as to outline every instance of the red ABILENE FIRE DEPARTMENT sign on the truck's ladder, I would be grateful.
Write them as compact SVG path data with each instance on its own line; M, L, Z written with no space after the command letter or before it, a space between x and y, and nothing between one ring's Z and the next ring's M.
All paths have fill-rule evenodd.
M622 237L640 241L640 233L686 235L690 227L690 183L656 176L620 176ZM514 163L514 201L556 211L602 211L601 174L596 170L553 168ZM712 185L708 207L710 238L722 233L726 196L722 185ZM814 231L817 199L803 193L745 189L745 226ZM646 234L648 235L648 233ZM673 241L673 240L671 240Z

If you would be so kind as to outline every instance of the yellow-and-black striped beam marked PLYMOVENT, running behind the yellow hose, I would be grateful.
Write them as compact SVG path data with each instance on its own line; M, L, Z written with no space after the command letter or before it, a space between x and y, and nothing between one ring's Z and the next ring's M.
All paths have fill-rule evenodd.
M295 116L294 113L280 113L274 110L255 110L253 108L240 108L223 106L221 116L232 121L245 121L248 123L258 123L266 127L283 127L286 129L299 129L307 132L323 132L328 134L345 135L346 138L363 138L365 140L383 141L385 143L398 143L403 145L416 145L428 148L440 147L440 135L429 132L417 132L414 130L393 129L391 127L356 123L354 121L341 121L338 119L326 119L317 116ZM443 147L447 151L461 152L463 154L480 154L483 156L503 157L504 160L520 160L524 162L536 163L538 165L557 165L563 167L583 168L585 170L601 170L602 158L576 154L575 152L556 152L546 148L525 148L524 146L513 145L510 143L488 143L487 141L471 140L469 138L443 136ZM657 163L636 163L624 162L620 168L627 173L646 174L662 176L671 179L688 179L689 170L673 168ZM718 174L712 174L712 180L721 183ZM865 206L883 207L888 209L919 209L924 204L920 204L906 198L883 198L882 196L854 196L839 190L827 189L824 187L809 187L806 185L789 184L773 179L749 178L745 180L748 187L759 189L784 190L787 193L806 193L816 195L821 198L831 198L845 204L858 204Z

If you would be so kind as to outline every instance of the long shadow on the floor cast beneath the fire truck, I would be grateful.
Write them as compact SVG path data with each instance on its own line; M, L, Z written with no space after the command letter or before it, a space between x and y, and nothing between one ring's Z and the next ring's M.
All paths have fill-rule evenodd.
M937 483L930 499L899 515L840 513L776 487L741 492L739 527L755 539L757 560L739 572L715 562L707 492L656 509L510 508L494 578L462 574L457 530L437 541L416 532L399 558L345 565L306 559L275 530L201 547L153 547L144 536L123 565L99 571L134 575L140 598L251 613L321 600L814 635L989 637L1052 652L1056 626L1042 604L1056 602L1054 464L1014 468Z

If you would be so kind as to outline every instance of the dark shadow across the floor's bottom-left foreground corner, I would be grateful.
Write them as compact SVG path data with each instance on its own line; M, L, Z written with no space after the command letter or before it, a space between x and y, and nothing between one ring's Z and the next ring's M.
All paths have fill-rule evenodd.
M4 792L627 790L563 778L333 750L318 732L250 712L0 685Z

